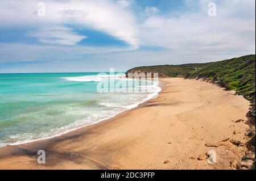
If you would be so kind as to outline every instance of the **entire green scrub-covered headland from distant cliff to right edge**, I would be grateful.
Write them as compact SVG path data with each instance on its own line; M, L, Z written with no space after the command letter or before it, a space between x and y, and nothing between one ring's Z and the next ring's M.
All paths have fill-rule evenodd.
M203 78L235 90L253 104L248 116L253 117L255 123L255 54L205 64L141 66L128 72L155 72L159 77Z

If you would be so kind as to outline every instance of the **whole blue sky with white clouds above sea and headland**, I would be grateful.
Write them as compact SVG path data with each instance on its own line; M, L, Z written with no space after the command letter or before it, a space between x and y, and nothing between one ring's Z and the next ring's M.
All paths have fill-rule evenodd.
M0 5L0 73L126 71L255 54L254 0Z

